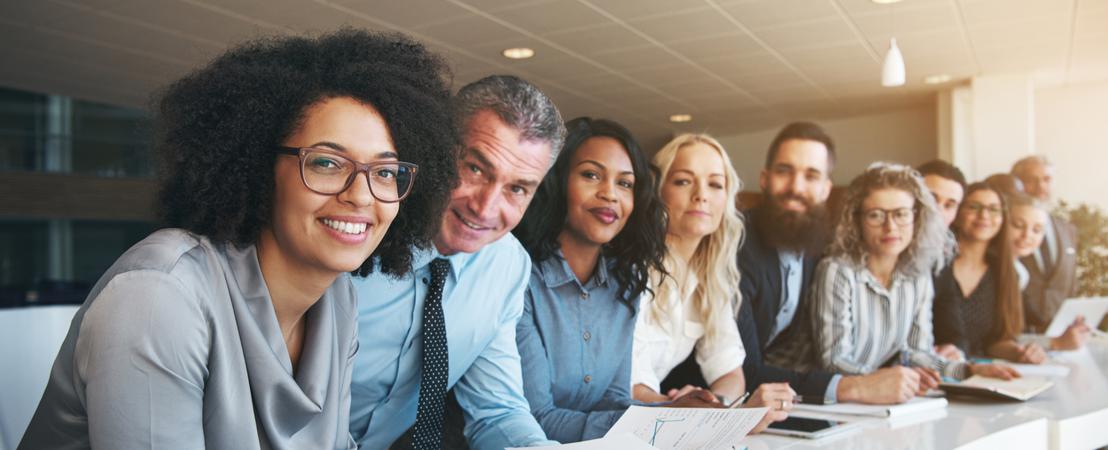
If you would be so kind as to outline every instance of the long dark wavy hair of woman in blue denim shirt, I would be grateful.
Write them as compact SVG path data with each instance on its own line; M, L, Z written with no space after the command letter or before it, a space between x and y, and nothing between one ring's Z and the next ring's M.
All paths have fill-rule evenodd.
M536 264L554 256L567 214L570 160L589 137L618 141L627 151L635 173L635 207L624 228L602 252L614 265L611 273L619 284L619 300L634 308L632 301L650 289L649 272L666 273L666 209L658 198L657 175L638 142L623 125L604 119L577 117L566 122L565 127L562 152L513 233Z

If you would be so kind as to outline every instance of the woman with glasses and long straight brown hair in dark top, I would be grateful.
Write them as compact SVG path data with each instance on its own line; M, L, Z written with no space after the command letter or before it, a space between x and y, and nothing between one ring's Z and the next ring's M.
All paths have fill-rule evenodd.
M966 188L951 228L958 256L938 275L935 303L955 313L935 323L935 342L953 344L968 356L1039 364L1046 351L1019 344L1023 301L1008 237L1006 198L986 183Z

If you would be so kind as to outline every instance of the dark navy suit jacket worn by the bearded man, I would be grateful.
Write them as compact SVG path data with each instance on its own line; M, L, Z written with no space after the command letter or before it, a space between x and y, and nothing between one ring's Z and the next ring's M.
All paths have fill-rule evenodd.
M755 229L752 217L759 214L759 211L760 208L753 208L747 213L747 237L738 255L739 272L742 274L739 283L742 301L739 306L737 320L739 336L742 338L742 346L747 351L747 357L742 361L742 375L747 380L747 390L752 392L763 382L787 381L800 395L823 396L827 392L828 383L831 382L832 374L799 372L765 364L762 355L766 352L766 346L762 342L768 340L772 324L777 319L777 311L781 308L781 267L777 250L768 247ZM774 340L774 347L789 339L803 338L802 336L807 335L803 333L803 327L807 325L806 317L809 308L804 303L808 299L808 287L815 272L818 259L817 255L804 255L800 305L797 307L792 325L781 331ZM693 356L669 374L661 382L661 389L665 391L685 385L707 386L704 378L700 377L700 368L696 366Z

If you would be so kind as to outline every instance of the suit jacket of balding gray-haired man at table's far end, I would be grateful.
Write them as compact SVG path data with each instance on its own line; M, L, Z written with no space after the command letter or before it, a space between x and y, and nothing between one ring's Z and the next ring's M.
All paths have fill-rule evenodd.
M1045 331L1061 303L1077 292L1077 228L1056 216L1050 216L1050 225L1058 243L1058 259L1054 270L1044 273L1035 262L1035 255L1020 259L1030 275L1024 289L1024 315L1032 330ZM1047 255L1043 255L1046 257Z

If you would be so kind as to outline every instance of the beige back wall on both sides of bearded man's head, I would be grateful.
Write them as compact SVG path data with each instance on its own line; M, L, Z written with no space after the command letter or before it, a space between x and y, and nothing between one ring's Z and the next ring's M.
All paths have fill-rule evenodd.
M874 161L894 161L914 166L935 158L938 154L936 116L935 105L927 104L880 114L817 121L838 147L839 163L832 173L832 181L835 185L849 184ZM716 136L727 149L745 191L758 191L758 172L766 164L766 150L779 130Z

